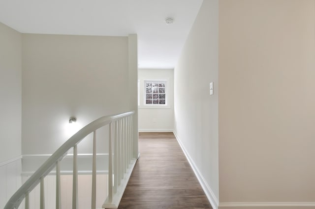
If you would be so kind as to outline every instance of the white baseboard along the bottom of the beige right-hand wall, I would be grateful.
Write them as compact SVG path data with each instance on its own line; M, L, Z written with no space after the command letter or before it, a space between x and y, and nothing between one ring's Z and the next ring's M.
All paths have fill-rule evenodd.
M220 203L220 209L315 209L315 202ZM312 207L312 208L310 208Z

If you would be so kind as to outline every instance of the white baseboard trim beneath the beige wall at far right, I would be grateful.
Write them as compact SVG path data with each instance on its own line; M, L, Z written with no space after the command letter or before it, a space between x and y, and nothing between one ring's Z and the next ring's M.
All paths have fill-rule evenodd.
M220 203L219 207L315 207L315 202L239 202L239 203Z

